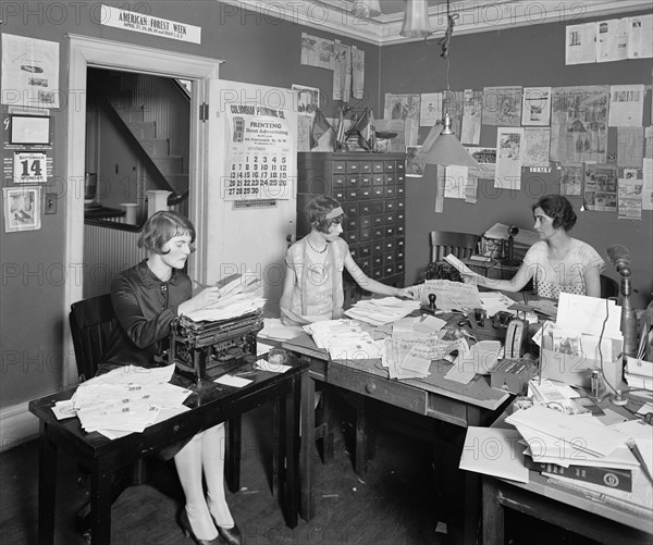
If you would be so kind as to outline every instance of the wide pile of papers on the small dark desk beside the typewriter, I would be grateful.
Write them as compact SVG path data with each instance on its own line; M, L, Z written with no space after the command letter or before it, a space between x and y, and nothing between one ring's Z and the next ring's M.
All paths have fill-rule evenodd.
M189 410L183 404L192 392L169 383L173 372L174 366L119 368L82 383L63 405L69 406L70 416L77 416L86 432L109 438L143 432Z

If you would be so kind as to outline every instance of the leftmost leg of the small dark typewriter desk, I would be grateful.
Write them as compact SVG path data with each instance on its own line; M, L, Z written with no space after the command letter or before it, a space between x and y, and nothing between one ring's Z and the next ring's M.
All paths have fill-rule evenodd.
M48 426L40 422L38 442L38 543L54 543L54 498L57 496L57 446L48 438Z

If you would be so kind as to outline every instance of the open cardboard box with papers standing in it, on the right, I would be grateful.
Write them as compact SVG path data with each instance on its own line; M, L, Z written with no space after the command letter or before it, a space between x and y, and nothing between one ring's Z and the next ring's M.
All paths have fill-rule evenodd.
M556 351L553 346L553 336L545 334L542 336L542 346L540 347L540 367L542 379L590 388L592 370L601 369L601 361L586 356L574 356ZM603 373L605 380L613 387L618 387L624 377L621 357L615 357L614 354L604 354ZM609 387L607 389L612 392Z

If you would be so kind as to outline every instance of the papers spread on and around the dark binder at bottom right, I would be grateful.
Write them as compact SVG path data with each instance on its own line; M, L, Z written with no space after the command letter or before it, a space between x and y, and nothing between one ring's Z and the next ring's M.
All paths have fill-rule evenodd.
M539 471L550 482L650 517L653 439L648 424L606 425L599 418L566 414L539 404L517 410L506 422L515 429L468 429L461 469L528 483L528 456L533 460L529 466L541 465ZM590 471L606 476L592 482ZM627 475L627 483L619 482L619 475Z

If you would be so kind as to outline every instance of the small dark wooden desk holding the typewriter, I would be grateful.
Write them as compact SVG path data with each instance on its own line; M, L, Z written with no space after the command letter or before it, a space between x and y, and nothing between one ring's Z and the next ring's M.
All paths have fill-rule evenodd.
M243 372L251 363L232 366L224 372ZM76 418L57 420L51 407L70 399L75 388L29 401L29 411L40 420L39 435L39 544L52 544L54 534L54 499L57 492L57 456L59 450L75 458L91 475L91 540L108 544L111 538L111 488L116 472L201 430L239 417L255 407L279 401L279 496L286 524L297 525L299 504L299 399L301 377L308 364L295 361L283 374L258 371L248 375L254 382L243 388L205 381L197 387L175 374L172 383L195 392L185 401L193 410L151 425L143 433L132 433L111 441L103 435L82 430Z

